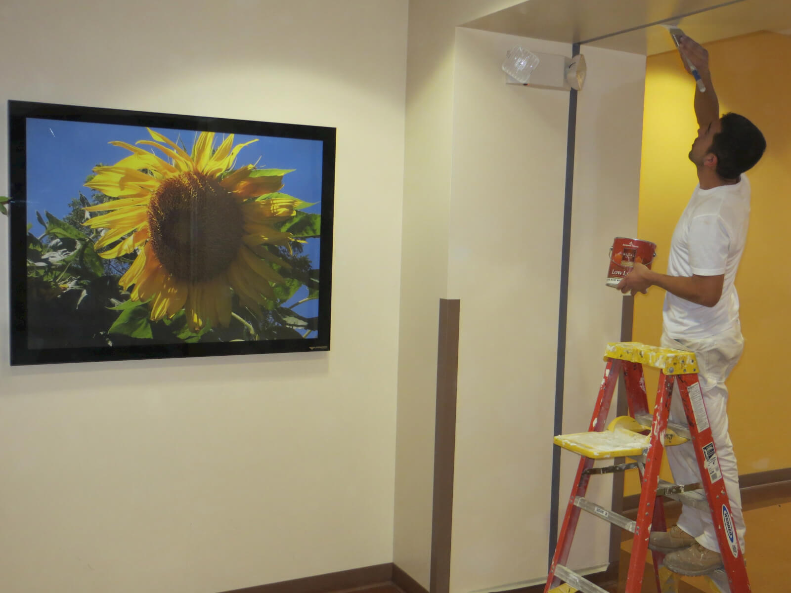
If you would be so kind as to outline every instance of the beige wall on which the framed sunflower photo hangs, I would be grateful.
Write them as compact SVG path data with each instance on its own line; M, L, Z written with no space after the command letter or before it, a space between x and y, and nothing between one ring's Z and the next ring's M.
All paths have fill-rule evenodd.
M2 591L213 593L392 561L406 42L402 0L0 6L3 103L339 131L329 353L9 368L0 221Z

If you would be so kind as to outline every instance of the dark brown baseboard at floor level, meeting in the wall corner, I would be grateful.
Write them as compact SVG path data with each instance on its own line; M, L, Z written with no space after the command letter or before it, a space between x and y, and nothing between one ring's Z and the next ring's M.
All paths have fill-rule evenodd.
M429 593L418 581L392 562L330 572L325 575L306 576L302 579L282 580L279 583L256 585L224 591L224 593L339 593L339 591L376 587L382 584L394 584L404 593Z

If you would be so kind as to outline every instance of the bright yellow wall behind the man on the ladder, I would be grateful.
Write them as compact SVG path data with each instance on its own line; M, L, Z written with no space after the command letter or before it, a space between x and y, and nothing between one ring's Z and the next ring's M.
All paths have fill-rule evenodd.
M745 349L728 381L730 433L744 475L791 466L787 431L767 428L770 421L791 417L784 351L791 331L791 77L787 74L791 37L759 32L709 43L706 48L721 112L735 111L751 119L768 145L763 160L748 173L750 232L736 276ZM654 269L663 273L676 221L698 182L687 160L697 131L693 93L694 84L675 51L649 57L638 236L657 243ZM635 297L636 341L659 343L663 299L664 291L657 288ZM653 393L657 375L646 380ZM636 476L628 476L626 494L638 491Z

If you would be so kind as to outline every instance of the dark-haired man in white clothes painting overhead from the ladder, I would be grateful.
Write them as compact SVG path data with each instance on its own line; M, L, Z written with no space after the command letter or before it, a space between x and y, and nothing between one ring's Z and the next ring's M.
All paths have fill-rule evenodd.
M728 434L725 380L744 346L739 298L733 285L750 214L750 183L744 172L763 156L766 142L743 116L729 113L720 117L708 52L686 36L679 39L679 51L686 59L687 72L693 74L690 64L694 66L706 88L705 92L699 87L695 91L694 111L700 129L689 153L700 183L673 232L668 274L657 274L635 263L618 288L633 295L645 293L649 286L667 291L661 344L697 355L706 411L744 552L739 472ZM678 387L672 397L671 419L685 419ZM668 448L667 455L676 483L700 482L691 442ZM679 574L708 574L722 566L710 513L688 506L675 527L651 535L649 547L667 553L665 567Z

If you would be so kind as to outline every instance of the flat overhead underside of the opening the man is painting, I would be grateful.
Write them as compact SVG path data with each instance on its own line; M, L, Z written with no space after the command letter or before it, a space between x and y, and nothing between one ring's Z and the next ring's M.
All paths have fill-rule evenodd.
M674 49L657 24L676 19L700 43L756 31L791 34L789 0L528 0L464 26L634 54Z

